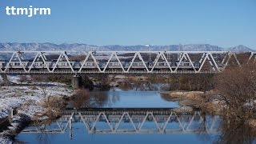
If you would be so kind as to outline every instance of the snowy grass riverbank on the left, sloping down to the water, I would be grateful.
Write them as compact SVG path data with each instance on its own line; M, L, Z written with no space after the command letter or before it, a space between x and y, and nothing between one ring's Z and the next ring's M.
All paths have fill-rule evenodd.
M10 80L18 83L18 77L12 77ZM0 133L0 142L11 143L11 138L14 138L24 123L29 122L34 116L43 115L46 112L46 99L67 98L73 95L73 90L62 83L41 82L42 86L40 82L35 83L36 86L0 86L0 119L8 117L11 109L17 111L10 121L10 126ZM48 84L50 86L47 86Z

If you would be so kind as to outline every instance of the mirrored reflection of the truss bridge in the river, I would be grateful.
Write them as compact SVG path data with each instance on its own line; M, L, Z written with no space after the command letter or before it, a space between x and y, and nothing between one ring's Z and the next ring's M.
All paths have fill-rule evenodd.
M65 110L50 126L32 125L22 133L65 133L82 122L88 134L174 134L218 133L218 116L197 110L175 109L82 109Z

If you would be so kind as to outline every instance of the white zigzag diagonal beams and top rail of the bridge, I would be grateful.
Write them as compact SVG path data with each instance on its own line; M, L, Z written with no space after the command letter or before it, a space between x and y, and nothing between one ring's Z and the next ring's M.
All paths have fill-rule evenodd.
M82 70L87 68L87 66L85 66L86 62L91 62L89 61L89 58L93 59L92 62L94 62L95 68L97 69L94 70L95 73L107 73L107 68L110 66L112 58L115 58L114 62L118 63L118 66L120 66L116 69L121 70L121 73L124 74L134 73L134 71L137 71L136 69L138 69L138 71L142 71L145 74L156 73L159 70L157 63L160 62L160 58L162 58L161 62L166 62L165 66L161 68L161 70L166 70L166 72L170 74L176 74L178 73L178 71L181 71L179 67L182 65L182 62L184 61L190 62L190 71L192 71L195 74L205 71L202 70L202 67L206 65L206 61L210 62L211 69L216 72L222 72L222 70L225 70L226 66L228 66L230 63L230 58L234 58L238 66L241 66L237 58L237 54L229 51L89 51L88 53L86 53L86 58L83 60L83 62L80 62L78 66L75 67L75 70L73 63L70 62L70 58L65 51L0 51L0 54L6 53L12 55L11 58L5 63L5 66L2 66L0 68L1 73L8 73L8 71L16 69L14 68L14 66L10 66L10 63L13 62L14 58L17 58L16 62L19 63L19 70L23 70L22 73L25 74L29 74L31 70L38 70L35 66L35 63L39 58L41 58L41 61L43 62L42 70L46 70L48 73L51 74L54 74L57 69L62 70L62 68L59 68L58 64L62 62L63 58L66 59L65 66L68 66L65 68L65 70L69 70L72 74L81 74ZM24 53L35 54L33 62L30 62L30 65L26 65L26 61L23 60L22 54ZM96 58L96 53L110 54L110 58L107 59L106 66L99 66L98 59ZM133 58L129 62L129 66L123 65L124 62L121 61L121 58L118 56L118 53L122 53L124 55L134 54ZM56 62L50 62L49 60L47 60L46 54L58 54L58 60ZM156 58L154 59L153 65L149 65L149 63L143 59L142 54L156 54ZM175 63L176 66L170 65L172 62L170 62L170 58L166 58L166 54L167 56L169 56L170 54L179 55L177 63ZM194 65L194 61L190 58L190 54L202 54L202 57L198 61L199 66L196 67ZM225 54L225 57L222 59L222 62L217 62L217 59L214 57L214 54ZM256 62L255 54L256 52L251 52L248 62L252 60ZM135 58L138 58L140 60L142 66L140 68L134 67L134 70L130 71L130 69L134 65ZM88 71L85 70L85 73L88 73Z

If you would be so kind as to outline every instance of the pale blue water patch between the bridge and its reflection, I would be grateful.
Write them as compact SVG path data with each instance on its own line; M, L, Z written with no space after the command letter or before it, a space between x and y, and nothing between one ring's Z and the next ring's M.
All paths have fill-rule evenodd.
M103 93L103 94L99 94ZM105 95L107 102L102 107L178 107L178 102L170 102L161 98L155 91L109 91L91 92L91 96Z

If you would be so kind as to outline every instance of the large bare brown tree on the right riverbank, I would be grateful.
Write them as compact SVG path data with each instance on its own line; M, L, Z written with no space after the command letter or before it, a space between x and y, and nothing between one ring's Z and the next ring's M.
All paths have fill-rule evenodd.
M256 66L245 65L226 69L215 78L218 100L229 118L245 121L254 117L256 100Z

